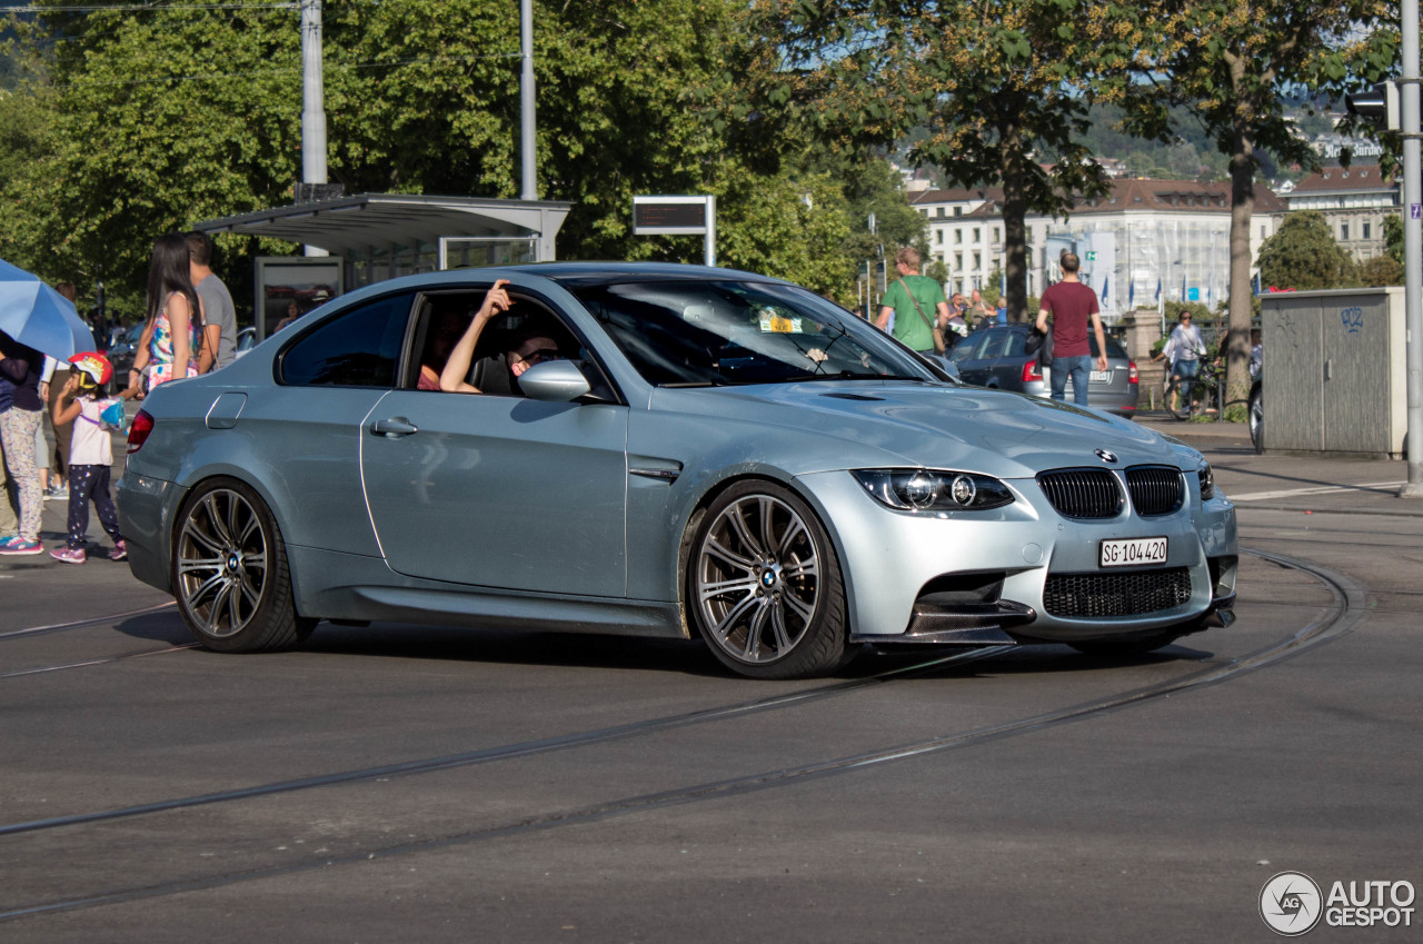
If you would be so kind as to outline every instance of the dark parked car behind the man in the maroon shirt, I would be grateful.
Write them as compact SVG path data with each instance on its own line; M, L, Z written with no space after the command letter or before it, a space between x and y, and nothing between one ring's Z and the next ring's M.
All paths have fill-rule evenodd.
M1039 370L1037 353L1029 353L1027 339L1030 325L998 325L978 330L961 340L949 352L948 359L959 369L965 383L995 390L1016 390L1035 397L1052 394L1050 367ZM1097 356L1097 339L1089 336L1093 357ZM1107 410L1118 416L1136 416L1137 411L1137 365L1111 337L1107 337L1107 369L1091 372L1087 390L1087 406ZM1069 399L1072 386L1069 383Z

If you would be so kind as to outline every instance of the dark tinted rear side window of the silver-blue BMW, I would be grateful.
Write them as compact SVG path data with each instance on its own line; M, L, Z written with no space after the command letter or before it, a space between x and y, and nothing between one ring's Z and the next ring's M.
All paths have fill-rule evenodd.
M410 318L410 295L388 295L342 312L282 355L290 386L394 387Z

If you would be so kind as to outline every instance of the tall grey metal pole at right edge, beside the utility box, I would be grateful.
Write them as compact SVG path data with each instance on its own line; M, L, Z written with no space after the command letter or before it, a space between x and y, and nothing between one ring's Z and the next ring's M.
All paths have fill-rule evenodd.
M1403 325L1409 392L1409 481L1400 498L1423 498L1423 141L1419 134L1419 0L1403 0Z

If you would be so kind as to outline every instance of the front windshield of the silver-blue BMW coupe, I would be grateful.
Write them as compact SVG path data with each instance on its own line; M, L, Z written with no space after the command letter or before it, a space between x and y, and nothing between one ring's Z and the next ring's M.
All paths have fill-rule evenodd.
M938 380L869 323L790 285L640 282L575 293L659 386Z

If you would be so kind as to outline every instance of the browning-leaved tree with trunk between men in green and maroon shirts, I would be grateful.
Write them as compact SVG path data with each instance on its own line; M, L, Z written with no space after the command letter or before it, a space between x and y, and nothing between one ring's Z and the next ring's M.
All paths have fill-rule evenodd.
M1087 130L1097 50L1086 0L756 0L760 97L824 145L899 140L962 187L1003 187L1009 312L1026 308L1029 211L1064 215L1106 177ZM1050 154L1044 168L1040 155Z

